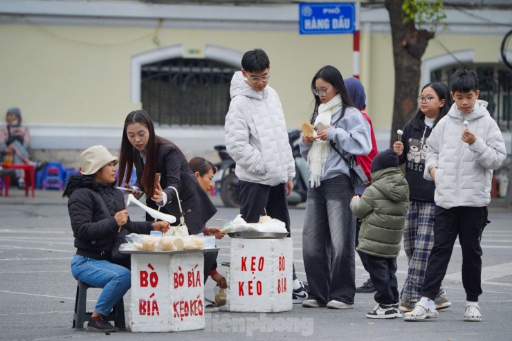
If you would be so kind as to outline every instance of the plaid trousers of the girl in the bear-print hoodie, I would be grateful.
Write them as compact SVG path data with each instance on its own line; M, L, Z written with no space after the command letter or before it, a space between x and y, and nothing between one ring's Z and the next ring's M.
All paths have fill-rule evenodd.
M428 256L434 246L435 203L409 202L409 212L403 228L403 248L409 264L401 300L414 304L421 298Z

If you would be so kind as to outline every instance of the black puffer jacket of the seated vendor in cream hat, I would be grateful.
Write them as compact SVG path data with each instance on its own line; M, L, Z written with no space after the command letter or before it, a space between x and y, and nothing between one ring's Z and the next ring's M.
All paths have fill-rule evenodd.
M102 204L93 192L100 194L111 216L105 216ZM120 190L113 184L97 183L91 176L75 175L69 178L64 195L69 198L68 211L77 255L109 260L113 239L119 230L113 216L125 209ZM123 228L138 234L149 234L153 230L152 223L146 221L128 220Z

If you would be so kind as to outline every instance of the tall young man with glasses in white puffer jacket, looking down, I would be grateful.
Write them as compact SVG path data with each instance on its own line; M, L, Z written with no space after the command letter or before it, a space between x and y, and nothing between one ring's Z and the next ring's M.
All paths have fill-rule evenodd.
M226 115L226 149L237 163L240 214L248 223L268 215L290 230L288 196L293 190L295 160L291 153L279 96L268 86L270 61L264 50L244 54L242 70L231 80L231 103ZM293 270L293 302L307 291Z

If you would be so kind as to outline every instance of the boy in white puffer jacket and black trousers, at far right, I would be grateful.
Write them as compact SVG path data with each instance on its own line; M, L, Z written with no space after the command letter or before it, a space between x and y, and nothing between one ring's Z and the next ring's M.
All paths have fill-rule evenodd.
M435 181L434 247L430 252L422 297L403 320L438 317L435 296L446 275L457 236L462 249L462 284L466 291L464 321L482 321L478 297L482 294L480 240L491 202L493 169L506 158L500 127L491 118L487 102L477 100L474 71L457 70L451 78L455 103L439 120L427 140L424 177Z

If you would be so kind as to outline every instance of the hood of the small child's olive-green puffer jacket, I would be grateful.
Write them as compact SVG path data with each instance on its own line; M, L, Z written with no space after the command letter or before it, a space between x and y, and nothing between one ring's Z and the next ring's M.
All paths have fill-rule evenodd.
M372 173L372 186L382 192L390 201L408 201L409 190L402 171L398 167L378 170ZM378 181L386 177L386 181Z

